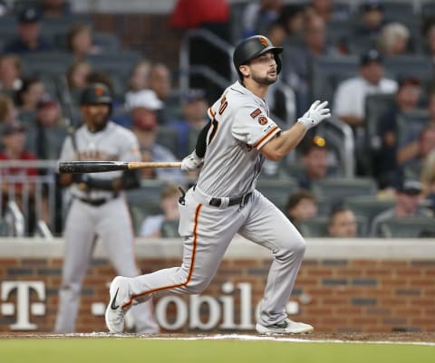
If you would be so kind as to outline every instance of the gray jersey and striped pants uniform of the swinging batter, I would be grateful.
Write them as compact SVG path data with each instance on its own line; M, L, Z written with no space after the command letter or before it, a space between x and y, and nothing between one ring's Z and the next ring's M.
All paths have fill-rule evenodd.
M271 251L265 296L258 323L285 319L285 305L304 257L304 239L287 217L256 189L262 147L280 129L268 118L266 102L239 82L232 84L208 111L205 164L196 186L179 203L183 237L180 267L127 279L121 304L146 301L155 293L198 293L211 281L235 234Z

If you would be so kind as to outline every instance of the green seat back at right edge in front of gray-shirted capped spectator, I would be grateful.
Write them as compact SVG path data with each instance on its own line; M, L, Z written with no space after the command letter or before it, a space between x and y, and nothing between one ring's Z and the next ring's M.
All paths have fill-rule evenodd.
M418 238L420 234L435 233L433 217L391 218L380 225L381 236L385 238Z

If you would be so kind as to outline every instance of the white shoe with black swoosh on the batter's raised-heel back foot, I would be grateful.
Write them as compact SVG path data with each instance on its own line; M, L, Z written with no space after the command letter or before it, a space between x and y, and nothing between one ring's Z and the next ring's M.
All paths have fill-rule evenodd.
M121 333L124 330L124 314L121 301L125 301L125 288L122 288L122 281L125 277L117 276L111 282L110 296L111 300L107 305L105 320L107 329L111 333ZM123 293L124 292L124 293ZM124 296L124 299L122 297Z

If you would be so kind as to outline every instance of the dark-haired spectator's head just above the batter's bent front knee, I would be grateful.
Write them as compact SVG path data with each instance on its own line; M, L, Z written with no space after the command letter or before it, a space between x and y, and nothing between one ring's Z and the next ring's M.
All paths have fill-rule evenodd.
M288 196L285 213L295 227L305 218L317 215L318 206L313 193L306 189L299 189Z

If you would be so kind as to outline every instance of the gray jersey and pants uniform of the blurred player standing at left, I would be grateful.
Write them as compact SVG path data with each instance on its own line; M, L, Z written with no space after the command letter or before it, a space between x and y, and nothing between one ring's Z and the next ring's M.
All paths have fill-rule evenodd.
M83 125L76 131L76 146L81 160L140 160L139 143L129 129L113 122L99 132L90 132ZM77 159L71 138L65 139L61 161ZM120 177L121 171L90 174L93 178ZM98 236L104 244L117 273L137 276L139 269L134 258L134 235L131 216L123 194L111 191L83 191L71 187L73 202L65 223L65 253L62 287L59 291L59 310L54 330L73 332L79 309L82 280L88 268L92 249ZM92 205L92 201L102 201ZM150 302L135 307L132 315L138 332L155 333L159 327L151 312Z

